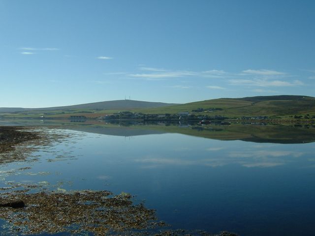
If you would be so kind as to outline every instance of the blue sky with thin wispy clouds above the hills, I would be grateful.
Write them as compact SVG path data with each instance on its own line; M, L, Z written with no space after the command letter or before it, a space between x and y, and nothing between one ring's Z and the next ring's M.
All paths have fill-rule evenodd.
M315 96L314 0L0 0L0 107Z

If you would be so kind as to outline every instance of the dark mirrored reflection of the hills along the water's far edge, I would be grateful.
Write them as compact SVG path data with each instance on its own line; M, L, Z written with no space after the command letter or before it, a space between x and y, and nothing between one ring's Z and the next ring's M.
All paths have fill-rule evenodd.
M138 136L149 134L179 133L216 140L242 140L254 143L301 144L315 142L315 125L274 125L240 124L221 125L213 122L200 125L191 121L143 122L137 120L87 120L70 122L69 120L0 120L1 125L57 126L63 129L77 130L113 136Z

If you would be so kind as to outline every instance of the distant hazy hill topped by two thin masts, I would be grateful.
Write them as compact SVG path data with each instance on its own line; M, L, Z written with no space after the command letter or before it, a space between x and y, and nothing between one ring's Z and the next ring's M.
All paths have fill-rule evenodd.
M25 111L54 111L54 110L75 110L75 109L89 109L89 110L129 110L135 108L155 108L175 105L174 103L162 102L145 102L136 100L114 100L104 102L94 102L62 107L47 107L47 108L0 108L2 113L25 112Z

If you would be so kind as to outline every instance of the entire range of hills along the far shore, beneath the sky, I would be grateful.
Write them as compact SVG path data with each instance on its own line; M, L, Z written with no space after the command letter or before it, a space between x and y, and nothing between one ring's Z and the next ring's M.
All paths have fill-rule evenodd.
M132 100L118 100L63 107L55 110L35 110L16 113L2 113L3 117L38 118L68 118L69 116L86 116L97 118L104 115L131 111L143 114L177 114L189 112L196 116L224 116L241 118L251 116L268 116L269 118L293 118L294 116L315 116L315 98L308 96L257 96L244 98L220 98L191 102L186 104L152 103ZM71 109L70 109L71 108ZM192 112L197 109L208 111ZM210 109L210 110L209 110ZM0 111L1 112L1 111ZM309 116L308 116L309 115Z

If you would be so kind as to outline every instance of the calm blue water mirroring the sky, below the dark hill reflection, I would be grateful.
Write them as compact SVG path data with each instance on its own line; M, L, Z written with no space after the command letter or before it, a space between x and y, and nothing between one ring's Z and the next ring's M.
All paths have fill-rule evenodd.
M127 127L120 127L122 136L97 130L103 134L58 129L73 137L35 151L37 161L2 164L0 187L46 181L51 189L128 192L174 229L314 235L315 143L221 141L157 129L126 137ZM18 170L23 167L31 169Z

